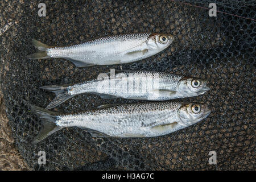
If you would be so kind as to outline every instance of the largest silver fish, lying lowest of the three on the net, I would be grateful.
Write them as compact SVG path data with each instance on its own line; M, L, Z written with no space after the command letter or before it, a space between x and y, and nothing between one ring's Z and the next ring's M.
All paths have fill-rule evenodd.
M64 127L80 127L92 137L158 137L184 129L210 114L206 104L185 102L146 102L103 105L100 109L62 114L31 106L43 127L32 140L36 144Z

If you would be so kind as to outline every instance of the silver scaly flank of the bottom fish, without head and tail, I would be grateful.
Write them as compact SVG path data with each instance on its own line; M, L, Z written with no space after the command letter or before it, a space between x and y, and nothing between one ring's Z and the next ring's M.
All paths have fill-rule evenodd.
M181 106L180 102L117 105L77 114L59 115L56 124L97 130L113 137L131 137L130 134L154 137L162 133L151 133L152 127L179 121L177 110Z

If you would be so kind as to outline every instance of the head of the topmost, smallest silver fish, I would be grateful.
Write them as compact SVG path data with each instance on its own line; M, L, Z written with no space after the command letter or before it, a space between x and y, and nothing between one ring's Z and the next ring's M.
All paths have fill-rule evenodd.
M170 34L151 34L147 38L147 46L151 49L160 49L163 50L170 46L174 41L174 36Z

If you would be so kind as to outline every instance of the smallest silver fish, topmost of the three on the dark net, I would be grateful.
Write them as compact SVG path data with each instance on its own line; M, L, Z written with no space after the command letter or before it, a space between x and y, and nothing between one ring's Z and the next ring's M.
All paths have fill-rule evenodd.
M48 46L32 39L39 52L28 59L64 58L76 67L132 63L153 56L166 49L174 36L158 33L133 33L88 39L67 47Z

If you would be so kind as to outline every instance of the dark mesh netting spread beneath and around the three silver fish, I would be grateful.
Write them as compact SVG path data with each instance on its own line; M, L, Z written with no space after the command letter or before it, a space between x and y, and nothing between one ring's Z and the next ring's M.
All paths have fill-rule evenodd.
M16 146L34 169L255 169L255 1L40 1L0 0L1 89ZM193 5L193 6L191 6ZM194 6L196 5L196 6ZM41 128L30 105L46 107L53 94L40 86L96 78L120 65L76 68L62 59L28 60L31 39L67 46L88 38L129 32L167 32L175 36L165 51L123 69L165 71L208 78L210 92L179 101L203 101L212 110L202 122L156 138L92 138L76 127L28 145ZM72 113L107 103L81 94L53 110ZM47 164L39 166L38 151ZM217 152L217 165L208 163Z

